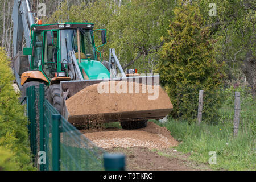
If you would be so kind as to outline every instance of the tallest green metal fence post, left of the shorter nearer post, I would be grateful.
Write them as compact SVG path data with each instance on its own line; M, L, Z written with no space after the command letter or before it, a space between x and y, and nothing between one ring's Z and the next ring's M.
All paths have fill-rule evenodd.
M40 132L40 151L46 152L44 149L44 84L39 85L39 132ZM44 164L40 164L40 171L44 171Z

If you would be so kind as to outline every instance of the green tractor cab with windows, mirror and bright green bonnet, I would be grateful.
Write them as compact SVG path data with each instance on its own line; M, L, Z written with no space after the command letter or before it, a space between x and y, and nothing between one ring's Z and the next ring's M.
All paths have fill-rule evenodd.
M68 69L72 64L72 52L83 79L97 78L102 72L109 76L97 50L106 44L106 30L93 28L93 23L32 25L31 48L23 49L24 55L31 55L30 72L41 72L48 84L55 80L76 80L70 73L72 69ZM101 31L102 44L98 47L94 42L94 31ZM100 61L97 52L100 53ZM26 81L22 80L23 85Z

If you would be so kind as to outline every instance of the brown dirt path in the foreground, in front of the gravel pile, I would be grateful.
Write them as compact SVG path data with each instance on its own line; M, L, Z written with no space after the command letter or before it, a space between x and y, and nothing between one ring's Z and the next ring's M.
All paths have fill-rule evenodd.
M113 148L109 152L126 155L126 169L129 171L199 171L209 170L205 164L188 160L188 155L173 150L152 151L144 147Z

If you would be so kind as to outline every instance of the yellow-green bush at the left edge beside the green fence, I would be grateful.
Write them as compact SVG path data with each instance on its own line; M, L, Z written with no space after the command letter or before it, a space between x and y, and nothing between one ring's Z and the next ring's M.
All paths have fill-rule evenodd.
M12 86L14 76L9 64L4 49L0 47L0 168L33 169L28 147L27 118L19 102L20 95L15 93ZM10 155L6 156L8 151L11 151ZM10 168L12 165L8 164L5 168L5 161L9 158L13 159L11 161L16 167Z

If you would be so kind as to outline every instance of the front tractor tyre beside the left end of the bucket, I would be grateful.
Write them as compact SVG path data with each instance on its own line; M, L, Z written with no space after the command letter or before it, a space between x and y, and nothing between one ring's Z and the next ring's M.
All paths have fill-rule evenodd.
M60 84L49 86L47 100L61 113Z

